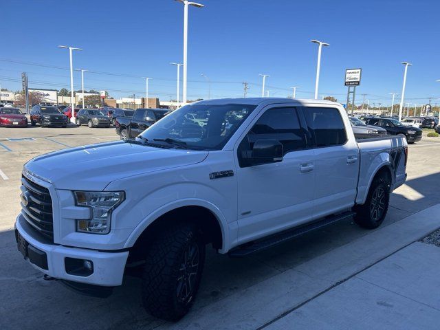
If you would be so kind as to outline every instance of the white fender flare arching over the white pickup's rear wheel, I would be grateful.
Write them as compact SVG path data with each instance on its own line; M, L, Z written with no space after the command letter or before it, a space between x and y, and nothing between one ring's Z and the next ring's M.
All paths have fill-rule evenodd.
M395 180L393 170L391 170L392 159L389 153L380 153L370 160L368 154L363 155L360 165L358 195L356 196L356 203L363 204L370 190L371 183L377 172L384 166L390 170L392 185Z

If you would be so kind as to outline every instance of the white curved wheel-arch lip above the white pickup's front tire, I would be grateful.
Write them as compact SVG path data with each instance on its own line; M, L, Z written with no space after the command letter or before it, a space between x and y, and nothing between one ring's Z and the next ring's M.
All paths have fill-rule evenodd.
M221 212L221 210L215 206L213 203L210 203L209 201L203 200L203 199L197 199L197 198L185 198L185 199L179 199L177 201L172 201L170 203L166 203L164 206L161 206L148 214L140 223L137 225L137 227L131 232L129 238L127 239L124 248L131 248L139 236L148 228L148 225L151 225L153 221L158 219L159 217L162 217L162 215L166 214L167 212L170 212L172 210L175 210L176 208L181 208L184 206L201 206L203 208L206 208L214 214L214 216L217 219L217 222L220 225L221 228L221 236L223 237L222 242L222 249L219 251L221 253L227 252L227 247L230 245L230 234L228 230L228 222L226 221L225 216Z

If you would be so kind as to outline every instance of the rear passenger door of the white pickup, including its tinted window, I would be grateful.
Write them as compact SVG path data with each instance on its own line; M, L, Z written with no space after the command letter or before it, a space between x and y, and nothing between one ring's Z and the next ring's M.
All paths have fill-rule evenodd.
M359 150L350 122L337 107L303 107L315 155L315 219L351 208L358 186Z

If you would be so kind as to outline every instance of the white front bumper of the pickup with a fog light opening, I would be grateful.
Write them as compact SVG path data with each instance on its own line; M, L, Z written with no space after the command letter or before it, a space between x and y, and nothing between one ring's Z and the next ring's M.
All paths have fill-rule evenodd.
M129 256L128 251L101 252L43 242L21 214L15 221L15 228L30 246L36 248L39 252L45 253L47 266L44 265L44 262L43 265L47 269L44 269L44 266L41 267L41 262L39 262L40 267L32 263L32 257L26 258L32 266L44 274L65 281L91 285L114 287L122 284L126 259ZM89 276L68 274L65 267L65 258L90 260L94 264L94 272Z

